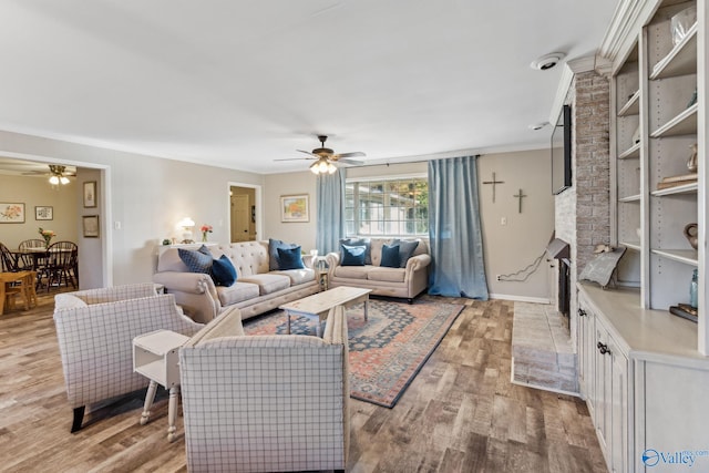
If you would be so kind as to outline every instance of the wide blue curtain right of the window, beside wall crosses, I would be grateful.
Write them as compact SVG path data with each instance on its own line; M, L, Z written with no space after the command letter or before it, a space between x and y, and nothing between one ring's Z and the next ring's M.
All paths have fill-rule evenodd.
M429 162L429 294L487 300L477 156Z

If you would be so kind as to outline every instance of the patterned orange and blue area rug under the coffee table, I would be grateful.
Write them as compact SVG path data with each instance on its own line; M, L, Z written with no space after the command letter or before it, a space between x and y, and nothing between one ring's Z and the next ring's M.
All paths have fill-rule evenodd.
M369 320L361 304L347 310L350 349L350 395L393 408L423 367L464 306L414 301L369 301ZM316 321L291 318L291 333L316 335ZM284 311L244 322L247 335L286 333Z

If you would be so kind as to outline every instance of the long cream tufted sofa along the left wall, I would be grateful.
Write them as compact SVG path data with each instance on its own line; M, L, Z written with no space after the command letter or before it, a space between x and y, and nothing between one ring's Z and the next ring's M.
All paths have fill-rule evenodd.
M158 256L157 273L153 275L153 281L173 294L195 321L206 323L226 307L239 308L242 317L247 319L320 290L309 255L302 258L305 269L271 271L268 241L217 245L209 250L214 258L226 255L236 268L237 279L233 286L216 286L209 275L189 273L177 248L167 248Z

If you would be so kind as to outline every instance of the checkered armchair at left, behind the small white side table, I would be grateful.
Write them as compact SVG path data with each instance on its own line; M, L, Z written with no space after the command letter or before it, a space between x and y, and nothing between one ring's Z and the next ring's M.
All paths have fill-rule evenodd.
M153 284L58 294L54 325L74 410L72 432L81 429L86 405L145 388L133 372L133 338L167 329L193 336L202 327L184 316L173 295L157 295Z

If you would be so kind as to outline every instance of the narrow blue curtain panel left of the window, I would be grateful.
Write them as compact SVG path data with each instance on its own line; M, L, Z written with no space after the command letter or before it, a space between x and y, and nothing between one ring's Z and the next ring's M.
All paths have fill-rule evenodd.
M345 172L318 174L318 224L316 247L318 255L339 250L345 236Z

